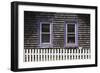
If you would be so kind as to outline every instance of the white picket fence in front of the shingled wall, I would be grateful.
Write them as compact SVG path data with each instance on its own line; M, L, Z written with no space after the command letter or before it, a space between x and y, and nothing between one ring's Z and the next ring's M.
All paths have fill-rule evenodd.
M90 49L24 49L24 62L90 59Z

